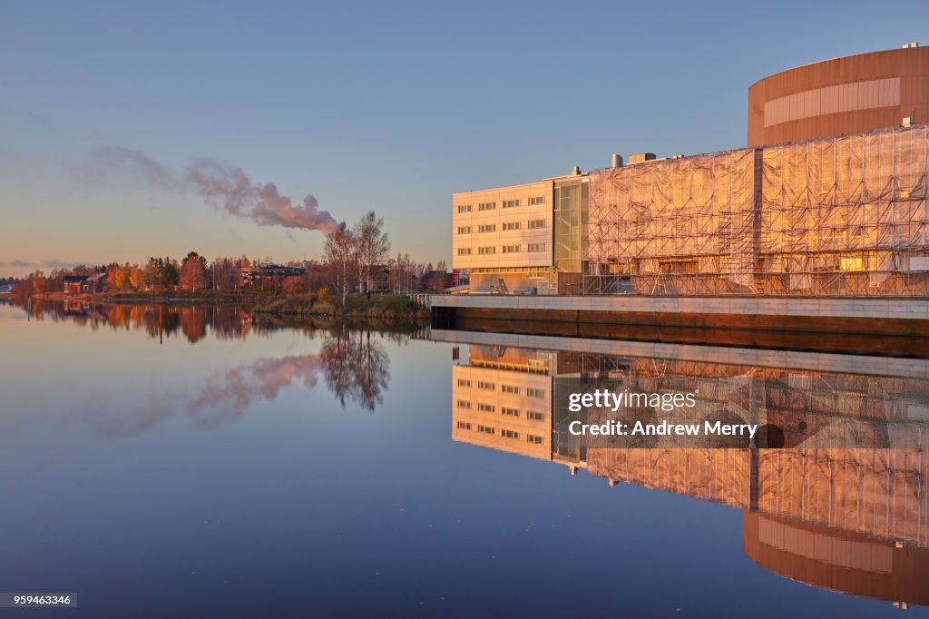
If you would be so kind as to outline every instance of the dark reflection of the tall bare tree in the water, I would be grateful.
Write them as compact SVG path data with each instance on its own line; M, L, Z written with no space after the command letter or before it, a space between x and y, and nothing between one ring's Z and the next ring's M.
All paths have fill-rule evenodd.
M321 351L326 386L343 408L356 402L373 411L384 402L382 389L390 381L390 358L371 332L343 330L328 338Z

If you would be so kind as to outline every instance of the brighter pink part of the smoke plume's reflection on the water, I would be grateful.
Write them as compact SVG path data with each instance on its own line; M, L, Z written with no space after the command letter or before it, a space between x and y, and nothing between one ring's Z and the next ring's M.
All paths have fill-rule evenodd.
M256 397L274 400L278 391L289 386L294 378L303 381L307 389L313 389L320 367L317 355L258 359L208 379L199 395L190 402L190 412L196 414L205 408L220 406L226 413L242 415ZM219 421L222 416L210 423Z

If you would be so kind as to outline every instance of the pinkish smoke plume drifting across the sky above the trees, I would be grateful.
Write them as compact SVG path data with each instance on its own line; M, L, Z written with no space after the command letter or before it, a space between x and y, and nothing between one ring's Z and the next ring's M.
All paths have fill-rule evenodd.
M259 226L321 230L328 234L337 225L328 211L319 209L312 195L307 195L303 204L294 204L273 183L252 182L241 167L200 159L177 175L142 152L112 146L93 151L91 159L105 168L141 174L156 187L192 189L208 204L222 206L232 215L247 217Z

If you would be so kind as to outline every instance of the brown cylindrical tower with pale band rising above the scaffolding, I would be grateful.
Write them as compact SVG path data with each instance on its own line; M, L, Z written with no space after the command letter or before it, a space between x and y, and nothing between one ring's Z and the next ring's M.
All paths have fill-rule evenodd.
M929 47L846 56L775 73L749 87L748 145L929 122Z

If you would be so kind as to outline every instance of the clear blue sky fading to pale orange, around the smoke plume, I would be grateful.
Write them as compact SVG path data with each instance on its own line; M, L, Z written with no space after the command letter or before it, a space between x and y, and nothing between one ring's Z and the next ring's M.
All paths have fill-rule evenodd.
M745 145L747 92L929 44L929 3L0 0L0 276L150 256L319 257L175 177L241 167L392 254L451 260L451 194Z

